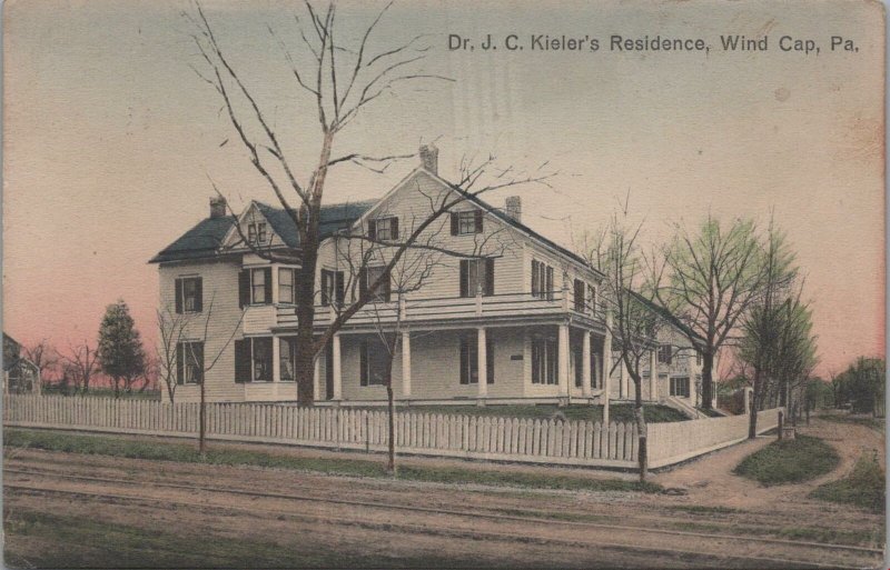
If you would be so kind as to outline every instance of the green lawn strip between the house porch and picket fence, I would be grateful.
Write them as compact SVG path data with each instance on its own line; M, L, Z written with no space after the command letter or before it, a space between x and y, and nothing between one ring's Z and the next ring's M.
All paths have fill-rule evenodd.
M379 408L375 408L379 409ZM399 411L416 413L453 413L465 416L492 416L496 418L531 418L548 420L562 413L567 420L603 421L602 406L565 406L560 408L554 404L541 406L414 406L400 408ZM668 406L643 406L649 422L686 421L683 412ZM621 403L610 407L611 421L633 421L633 406Z

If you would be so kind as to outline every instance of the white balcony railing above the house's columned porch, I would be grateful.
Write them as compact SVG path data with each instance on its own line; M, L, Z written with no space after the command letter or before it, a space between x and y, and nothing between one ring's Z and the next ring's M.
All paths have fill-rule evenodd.
M253 309L253 308L251 308ZM358 310L352 318L350 324L377 324L402 322L424 322L438 320L458 320L476 318L522 318L551 314L572 313L596 318L592 311L577 311L572 302L571 292L553 291L550 296L533 296L528 293L505 293L477 297L449 297L434 299L407 299L403 302L369 302ZM315 324L325 327L337 317L334 307L316 306ZM245 332L248 332L248 322L251 331L258 321L269 322L268 313L257 314L257 319L245 319ZM297 316L293 306L276 307L276 328L296 328ZM267 329L268 330L268 329ZM258 331L257 331L258 332Z

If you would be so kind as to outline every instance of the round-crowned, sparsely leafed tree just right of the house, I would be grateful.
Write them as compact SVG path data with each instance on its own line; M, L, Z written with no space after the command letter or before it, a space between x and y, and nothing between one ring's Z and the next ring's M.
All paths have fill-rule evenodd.
M761 294L763 263L756 228L751 220L733 220L729 229L710 214L696 234L676 227L657 269L659 301L676 311L704 339L702 348L702 408L714 394L714 358L731 340L739 319ZM666 279L661 279L666 270Z

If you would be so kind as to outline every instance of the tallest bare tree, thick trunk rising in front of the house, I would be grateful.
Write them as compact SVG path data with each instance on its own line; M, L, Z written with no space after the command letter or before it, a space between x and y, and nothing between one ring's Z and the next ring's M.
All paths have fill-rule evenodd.
M296 291L297 336L294 369L297 399L301 406L313 402L315 358L343 324L374 298L383 284L382 279L367 283L363 294L343 307L327 329L316 334L315 274L320 247L322 203L328 172L344 164L382 172L394 161L414 156L413 153L370 156L355 151L335 156L334 143L340 141L339 136L344 129L364 113L368 106L392 94L398 88L419 81L452 81L419 69L428 49L421 36L390 48L372 49L373 41L369 40L389 6L392 3L387 4L364 29L362 39L355 43L343 41L334 3L326 8L317 8L306 1L305 12L295 17L295 36L298 36L301 53L294 52L269 27L271 38L280 46L290 68L295 88L298 93L305 96L303 103L298 103L299 109L317 116L318 119L318 158L314 161L315 166L303 177L298 176L297 169L288 158L285 144L279 140L268 113L264 111L253 89L235 69L201 6L196 3L194 13L184 14L195 30L192 40L201 60L201 69L194 68L196 73L218 94L226 116L237 132L237 139L249 156L250 163L273 190L297 229L300 268ZM306 133L300 133L300 137L299 144L305 146ZM389 258L387 269L392 269L427 229L437 231L439 228L435 227L436 222L455 204L498 188L520 183L543 183L552 176L543 173L546 163L534 173L523 173L512 167L495 169L493 162L494 158L490 157L481 163L473 160L465 160L462 163L461 180L453 187L454 192L444 192L441 199L431 200L431 210L425 219L415 226L414 231L405 232L399 240L389 240L388 246L394 248L394 253ZM481 179L486 173L493 174L493 180L488 184L482 184ZM238 228L238 231L240 233L241 229ZM257 248L243 234L240 238L258 256L273 261L279 259L273 251Z

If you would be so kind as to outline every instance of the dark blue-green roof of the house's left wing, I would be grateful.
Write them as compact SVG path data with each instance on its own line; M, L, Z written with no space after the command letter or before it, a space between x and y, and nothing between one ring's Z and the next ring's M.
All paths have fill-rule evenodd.
M299 236L297 234L297 228L294 226L287 211L283 208L274 208L263 202L256 202L256 204L263 216L269 221L275 233L281 238L281 241L289 248L298 248ZM332 236L337 230L347 228L373 204L373 201L364 201L323 206L322 221L319 224L322 239ZM151 258L149 263L185 261L217 256L220 252L219 248L222 241L235 224L235 220L236 218L233 216L224 216L219 218L206 218L199 221L194 228Z

